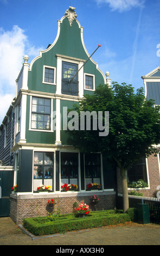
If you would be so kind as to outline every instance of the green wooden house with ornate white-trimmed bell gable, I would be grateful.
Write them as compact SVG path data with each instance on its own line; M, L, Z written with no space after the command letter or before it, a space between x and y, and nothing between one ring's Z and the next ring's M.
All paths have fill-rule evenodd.
M92 94L99 84L110 82L89 58L76 16L75 8L69 7L57 21L53 44L30 64L24 56L16 80L10 147L13 185L17 185L11 195L10 216L16 223L37 216L35 205L46 215L48 198L58 201L61 212L72 211L71 205L82 200L92 208L94 193L100 197L99 209L115 206L114 169L106 157L101 153L84 155L67 143L67 109L85 94ZM42 185L49 192L40 192Z

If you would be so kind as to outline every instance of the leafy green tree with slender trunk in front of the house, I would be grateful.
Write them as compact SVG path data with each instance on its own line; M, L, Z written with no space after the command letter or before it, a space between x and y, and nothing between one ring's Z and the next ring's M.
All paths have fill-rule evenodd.
M143 88L137 89L135 93L131 85L113 82L111 87L107 84L100 85L93 95L85 95L79 106L76 105L72 110L78 112L79 119L76 121L78 123L76 129L74 129L75 123L72 123L72 129L67 131L69 143L83 153L105 153L116 163L121 174L125 212L129 208L127 169L140 157L148 157L159 152L157 147L160 141L159 107L154 107L152 100L145 99ZM99 130L93 130L93 126L91 130L87 130L87 126L84 130L80 130L80 114L83 111L96 113L109 111L108 135L99 136ZM93 121L95 121L94 117L91 116L91 123ZM105 125L104 122L103 114Z

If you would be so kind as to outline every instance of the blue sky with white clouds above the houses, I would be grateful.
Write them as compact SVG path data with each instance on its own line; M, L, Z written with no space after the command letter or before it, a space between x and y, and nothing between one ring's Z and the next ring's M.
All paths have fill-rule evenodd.
M30 63L54 42L69 5L84 27L88 53L101 44L92 58L112 81L137 89L141 76L160 66L159 0L0 0L0 123L15 97L23 56Z

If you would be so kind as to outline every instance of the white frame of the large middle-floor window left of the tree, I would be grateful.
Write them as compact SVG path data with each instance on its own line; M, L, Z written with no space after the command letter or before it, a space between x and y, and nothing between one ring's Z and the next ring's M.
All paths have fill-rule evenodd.
M31 107L32 107L32 97L41 97L47 98L51 101L50 105L50 130L41 130L41 129L31 129ZM30 109L29 109L29 131L39 131L39 132L54 132L53 131L53 99L49 97L44 97L42 95L31 95L30 96Z

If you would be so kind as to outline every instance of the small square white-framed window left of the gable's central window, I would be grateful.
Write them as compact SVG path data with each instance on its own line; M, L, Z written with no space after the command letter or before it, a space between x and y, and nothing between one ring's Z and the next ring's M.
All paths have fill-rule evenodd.
M43 83L55 84L55 68L54 67L44 66Z

